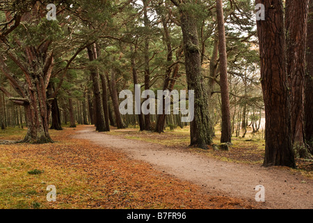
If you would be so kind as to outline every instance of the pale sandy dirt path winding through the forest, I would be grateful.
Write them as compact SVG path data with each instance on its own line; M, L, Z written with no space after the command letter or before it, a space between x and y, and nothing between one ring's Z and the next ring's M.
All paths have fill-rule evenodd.
M79 139L126 153L130 158L149 162L167 174L202 186L212 195L225 194L255 202L255 187L264 185L262 208L313 208L312 181L289 169L223 162L159 144L123 139L95 132L86 126Z

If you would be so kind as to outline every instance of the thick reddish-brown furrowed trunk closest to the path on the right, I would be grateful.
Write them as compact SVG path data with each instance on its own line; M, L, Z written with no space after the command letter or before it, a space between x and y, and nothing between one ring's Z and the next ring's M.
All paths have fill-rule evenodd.
M263 3L266 10L265 20L257 21L266 119L263 164L296 167L291 144L282 0L257 0L256 3Z

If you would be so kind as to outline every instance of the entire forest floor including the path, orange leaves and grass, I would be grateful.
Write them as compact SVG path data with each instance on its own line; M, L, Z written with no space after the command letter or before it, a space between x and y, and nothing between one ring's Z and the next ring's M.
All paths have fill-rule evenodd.
M23 134L0 131L0 141ZM0 145L0 208L313 207L312 171L261 167L259 138L203 151L188 147L188 129L104 133L79 125L51 137L54 144ZM47 185L56 186L56 202L47 201ZM255 201L256 185L264 185L265 202Z

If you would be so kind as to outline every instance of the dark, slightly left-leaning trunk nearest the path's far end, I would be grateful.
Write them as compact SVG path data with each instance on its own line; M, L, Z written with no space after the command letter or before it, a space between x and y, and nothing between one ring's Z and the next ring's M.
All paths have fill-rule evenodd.
M95 45L91 45L87 47L88 49L88 56L90 61L95 61L97 59L97 50ZM95 96L95 114L96 118L96 131L104 132L106 131L106 126L104 123L104 112L102 107L102 98L101 98L101 91L100 91L100 84L99 84L99 72L92 68L90 70L91 77L93 78L93 94ZM95 117L94 117L95 118Z

